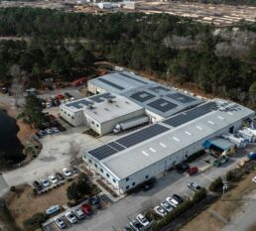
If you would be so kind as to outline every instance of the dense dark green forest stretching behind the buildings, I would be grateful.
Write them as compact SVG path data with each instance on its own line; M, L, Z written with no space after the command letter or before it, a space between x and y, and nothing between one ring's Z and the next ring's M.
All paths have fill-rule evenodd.
M239 27L255 30L255 24ZM46 73L68 78L84 74L93 61L146 70L159 78L167 72L178 83L196 83L204 92L241 102L256 101L256 44L244 58L218 57L213 25L167 14L77 14L54 10L0 9L0 36L27 40L0 43L0 77L10 78L18 63L31 78ZM196 48L167 46L167 38L190 37ZM28 42L29 41L29 42Z

